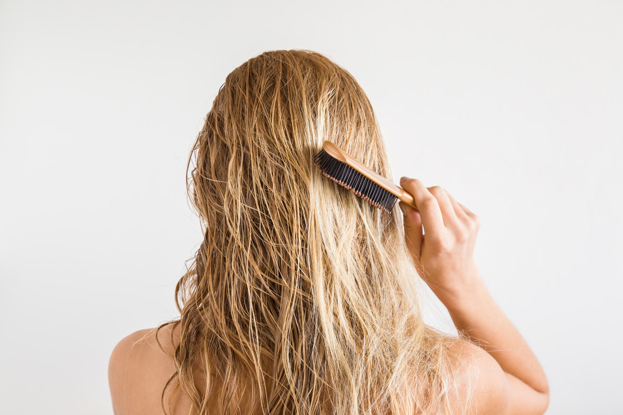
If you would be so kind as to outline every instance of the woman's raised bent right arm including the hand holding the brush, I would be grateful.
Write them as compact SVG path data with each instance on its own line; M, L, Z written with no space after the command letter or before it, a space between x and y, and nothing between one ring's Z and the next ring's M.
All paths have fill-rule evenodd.
M495 358L506 373L504 413L544 413L549 402L545 373L493 301L473 261L480 220L440 187L427 188L406 177L400 183L419 208L400 203L407 244L419 274L447 307L457 329Z

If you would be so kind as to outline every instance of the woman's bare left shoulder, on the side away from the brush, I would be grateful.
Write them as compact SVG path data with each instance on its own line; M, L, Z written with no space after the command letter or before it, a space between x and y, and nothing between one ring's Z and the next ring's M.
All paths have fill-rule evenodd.
M173 325L167 325L159 330L158 338L156 329L146 329L131 333L117 343L108 363L115 415L163 413L161 397L164 386L175 373L171 354L177 335ZM190 405L182 395L176 394L173 404L188 413Z

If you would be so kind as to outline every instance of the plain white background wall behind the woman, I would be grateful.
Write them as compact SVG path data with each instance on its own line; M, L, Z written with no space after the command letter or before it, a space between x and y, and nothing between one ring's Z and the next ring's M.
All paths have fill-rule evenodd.
M108 355L176 316L188 152L269 49L349 70L394 177L482 218L477 260L548 414L620 414L618 1L0 2L0 412L110 414Z

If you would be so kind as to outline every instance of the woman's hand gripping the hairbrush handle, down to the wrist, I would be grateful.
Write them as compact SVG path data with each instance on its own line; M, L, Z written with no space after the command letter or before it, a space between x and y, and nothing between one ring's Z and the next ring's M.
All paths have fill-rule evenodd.
M418 273L442 301L467 291L480 281L473 261L480 219L439 186L427 188L408 177L402 177L400 185L419 209L400 202L407 246Z

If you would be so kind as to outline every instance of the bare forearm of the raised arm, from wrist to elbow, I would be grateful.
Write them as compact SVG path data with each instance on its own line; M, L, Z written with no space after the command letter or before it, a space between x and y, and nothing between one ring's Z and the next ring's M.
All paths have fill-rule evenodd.
M435 289L458 330L498 361L502 370L541 393L548 383L534 353L487 291L480 276L455 289Z

